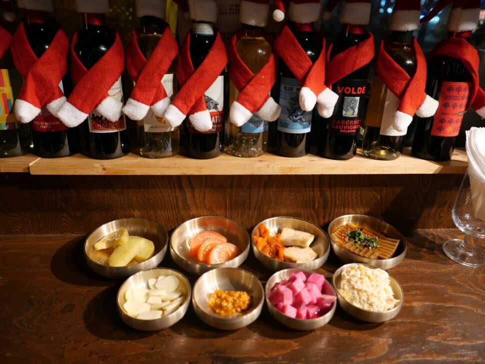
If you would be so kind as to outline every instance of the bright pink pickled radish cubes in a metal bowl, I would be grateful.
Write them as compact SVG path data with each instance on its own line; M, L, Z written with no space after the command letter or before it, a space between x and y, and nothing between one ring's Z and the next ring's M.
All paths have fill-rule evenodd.
M311 273L306 277L302 271L291 273L289 279L271 287L268 299L286 316L299 319L317 318L327 313L336 296L322 293L323 286L329 284L321 274Z

